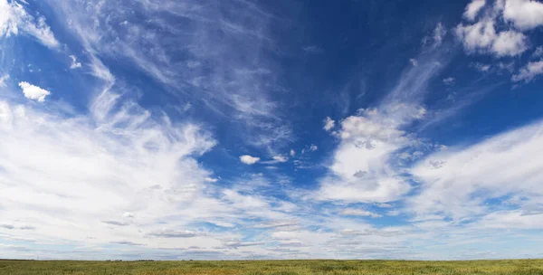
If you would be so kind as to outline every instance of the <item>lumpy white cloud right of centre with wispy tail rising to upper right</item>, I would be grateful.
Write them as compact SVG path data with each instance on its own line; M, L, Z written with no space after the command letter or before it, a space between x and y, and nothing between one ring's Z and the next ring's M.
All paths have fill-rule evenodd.
M438 49L433 49L434 51ZM392 165L395 152L411 143L402 129L424 117L420 102L428 82L442 62L421 55L378 108L360 109L341 120L335 136L340 139L330 159L329 175L320 181L313 197L321 201L386 203L400 199L411 185Z

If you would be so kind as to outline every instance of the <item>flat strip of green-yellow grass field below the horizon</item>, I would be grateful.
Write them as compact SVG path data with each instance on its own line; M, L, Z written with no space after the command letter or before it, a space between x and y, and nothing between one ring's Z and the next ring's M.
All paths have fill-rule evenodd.
M543 260L507 261L0 261L0 274L522 274L543 275Z

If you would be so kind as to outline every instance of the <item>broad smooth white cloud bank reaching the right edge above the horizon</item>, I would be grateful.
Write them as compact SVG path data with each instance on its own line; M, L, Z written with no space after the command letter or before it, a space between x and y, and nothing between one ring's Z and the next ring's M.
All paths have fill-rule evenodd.
M411 171L422 189L407 199L408 208L420 216L439 213L458 221L490 212L487 200L503 196L520 195L521 208L543 202L542 128L539 121L429 156Z

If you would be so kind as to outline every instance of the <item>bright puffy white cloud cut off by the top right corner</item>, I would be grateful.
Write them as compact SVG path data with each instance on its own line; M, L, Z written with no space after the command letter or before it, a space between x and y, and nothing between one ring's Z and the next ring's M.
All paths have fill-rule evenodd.
M543 3L534 0L505 0L503 18L521 30L543 25Z

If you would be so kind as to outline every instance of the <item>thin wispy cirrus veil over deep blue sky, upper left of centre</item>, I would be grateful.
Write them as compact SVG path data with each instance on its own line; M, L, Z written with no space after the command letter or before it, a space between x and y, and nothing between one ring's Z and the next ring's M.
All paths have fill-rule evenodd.
M276 16L262 14L265 8L228 2L224 9L238 14L229 16L218 6L197 1L144 1L128 9L121 3L100 3L48 1L59 24L70 26L85 52L125 58L170 90L191 86L208 110L235 117L232 123L245 132L243 141L252 147L278 151L293 139L291 123L272 94L283 89L277 81L281 66L270 57L256 58L274 51L272 29L284 25ZM127 14L140 17L130 19ZM155 20L163 14L186 20L184 31L172 28L168 20ZM147 24L149 20L155 25ZM171 46L176 43L186 45L186 54L179 55L180 49ZM243 54L237 54L241 49Z

